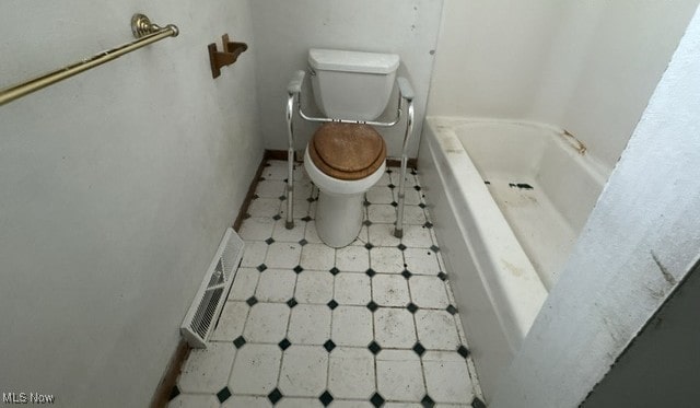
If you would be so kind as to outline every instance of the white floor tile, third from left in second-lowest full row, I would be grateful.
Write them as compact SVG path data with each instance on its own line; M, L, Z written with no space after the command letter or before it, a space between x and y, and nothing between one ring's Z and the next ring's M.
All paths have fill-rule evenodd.
M323 345L330 339L330 307L299 304L292 308L288 338L292 345Z

